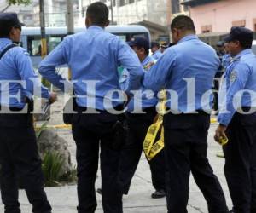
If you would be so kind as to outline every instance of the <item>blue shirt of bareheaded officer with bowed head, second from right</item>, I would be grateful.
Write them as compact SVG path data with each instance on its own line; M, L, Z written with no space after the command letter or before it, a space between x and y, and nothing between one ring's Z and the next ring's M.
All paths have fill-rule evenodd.
M144 75L143 85L154 91L172 89L175 95L170 95L167 91L166 103L172 111L210 112L212 95L205 97L204 94L212 89L213 78L219 63L218 56L212 47L201 42L195 35L189 35L183 37L177 45L166 49L160 60ZM193 87L193 80L195 80L195 87Z

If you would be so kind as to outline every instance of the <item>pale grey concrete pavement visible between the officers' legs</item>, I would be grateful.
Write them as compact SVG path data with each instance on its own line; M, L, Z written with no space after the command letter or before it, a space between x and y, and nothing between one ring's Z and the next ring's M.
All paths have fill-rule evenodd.
M63 103L59 101L52 106L51 110L51 119L49 125L62 124L62 108ZM221 147L213 141L213 134L217 124L212 124L209 130L209 149L208 149L208 158L210 164L215 174L218 176L219 181L224 187L224 193L226 194L226 199L231 207L230 195L228 192L227 184L224 178L224 158L217 158L216 154L221 152ZM73 141L71 130L60 129L57 130L59 135L68 142L68 149L71 153L71 160L73 164L76 164L75 161L75 143ZM101 175L98 172L99 178L96 180L96 188L101 186ZM49 197L50 204L53 207L53 213L73 213L76 212L77 206L77 194L76 186L67 186L67 187L53 187L46 188L46 193ZM136 176L134 176L131 191L128 196L124 197L124 212L133 212L133 213L164 213L166 210L166 199L151 199L150 195L154 192L154 188L151 184L150 170L148 162L144 156L140 160ZM97 213L102 212L102 198L97 194L98 208ZM31 212L31 206L26 199L26 193L23 190L20 190L20 204L21 210L23 213ZM189 213L207 213L207 203L203 198L199 188L196 186L193 177L190 179L190 193L189 193ZM0 201L0 213L3 212L3 204ZM173 212L175 213L175 212Z

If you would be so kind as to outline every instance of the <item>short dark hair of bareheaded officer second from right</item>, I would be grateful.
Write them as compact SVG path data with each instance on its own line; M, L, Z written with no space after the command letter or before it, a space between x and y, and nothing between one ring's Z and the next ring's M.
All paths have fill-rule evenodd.
M172 20L171 30L174 28L195 32L195 25L193 20L189 16L183 14L178 15Z

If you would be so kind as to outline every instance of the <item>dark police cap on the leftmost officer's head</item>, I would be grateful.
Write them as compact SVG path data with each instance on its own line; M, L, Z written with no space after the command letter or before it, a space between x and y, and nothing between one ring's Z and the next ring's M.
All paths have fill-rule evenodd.
M21 23L16 13L0 14L0 29L9 29L12 26L25 26Z

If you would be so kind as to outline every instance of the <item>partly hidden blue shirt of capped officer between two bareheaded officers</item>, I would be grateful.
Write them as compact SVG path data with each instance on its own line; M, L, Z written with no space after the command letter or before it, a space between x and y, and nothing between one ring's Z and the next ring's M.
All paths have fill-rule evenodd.
M143 62L142 62L142 66L144 68L144 72L148 72L149 67L148 65L150 65L150 63L154 62L154 58L151 56L147 56ZM127 83L130 81L129 79L129 73L127 73L127 71L124 70L124 72L122 73L122 76L120 78L120 84L121 84L121 88L125 89L125 87L127 86ZM145 89L143 88L143 86L140 88L140 92L144 92ZM131 112L131 111L137 111L137 109L140 109L140 106L142 108L147 108L147 107L154 107L156 106L158 102L158 99L156 98L156 96L154 95L154 97L152 98L147 98L145 95L143 95L142 98L135 98L133 97L131 99L131 101L129 101L128 103L128 108L127 111Z

